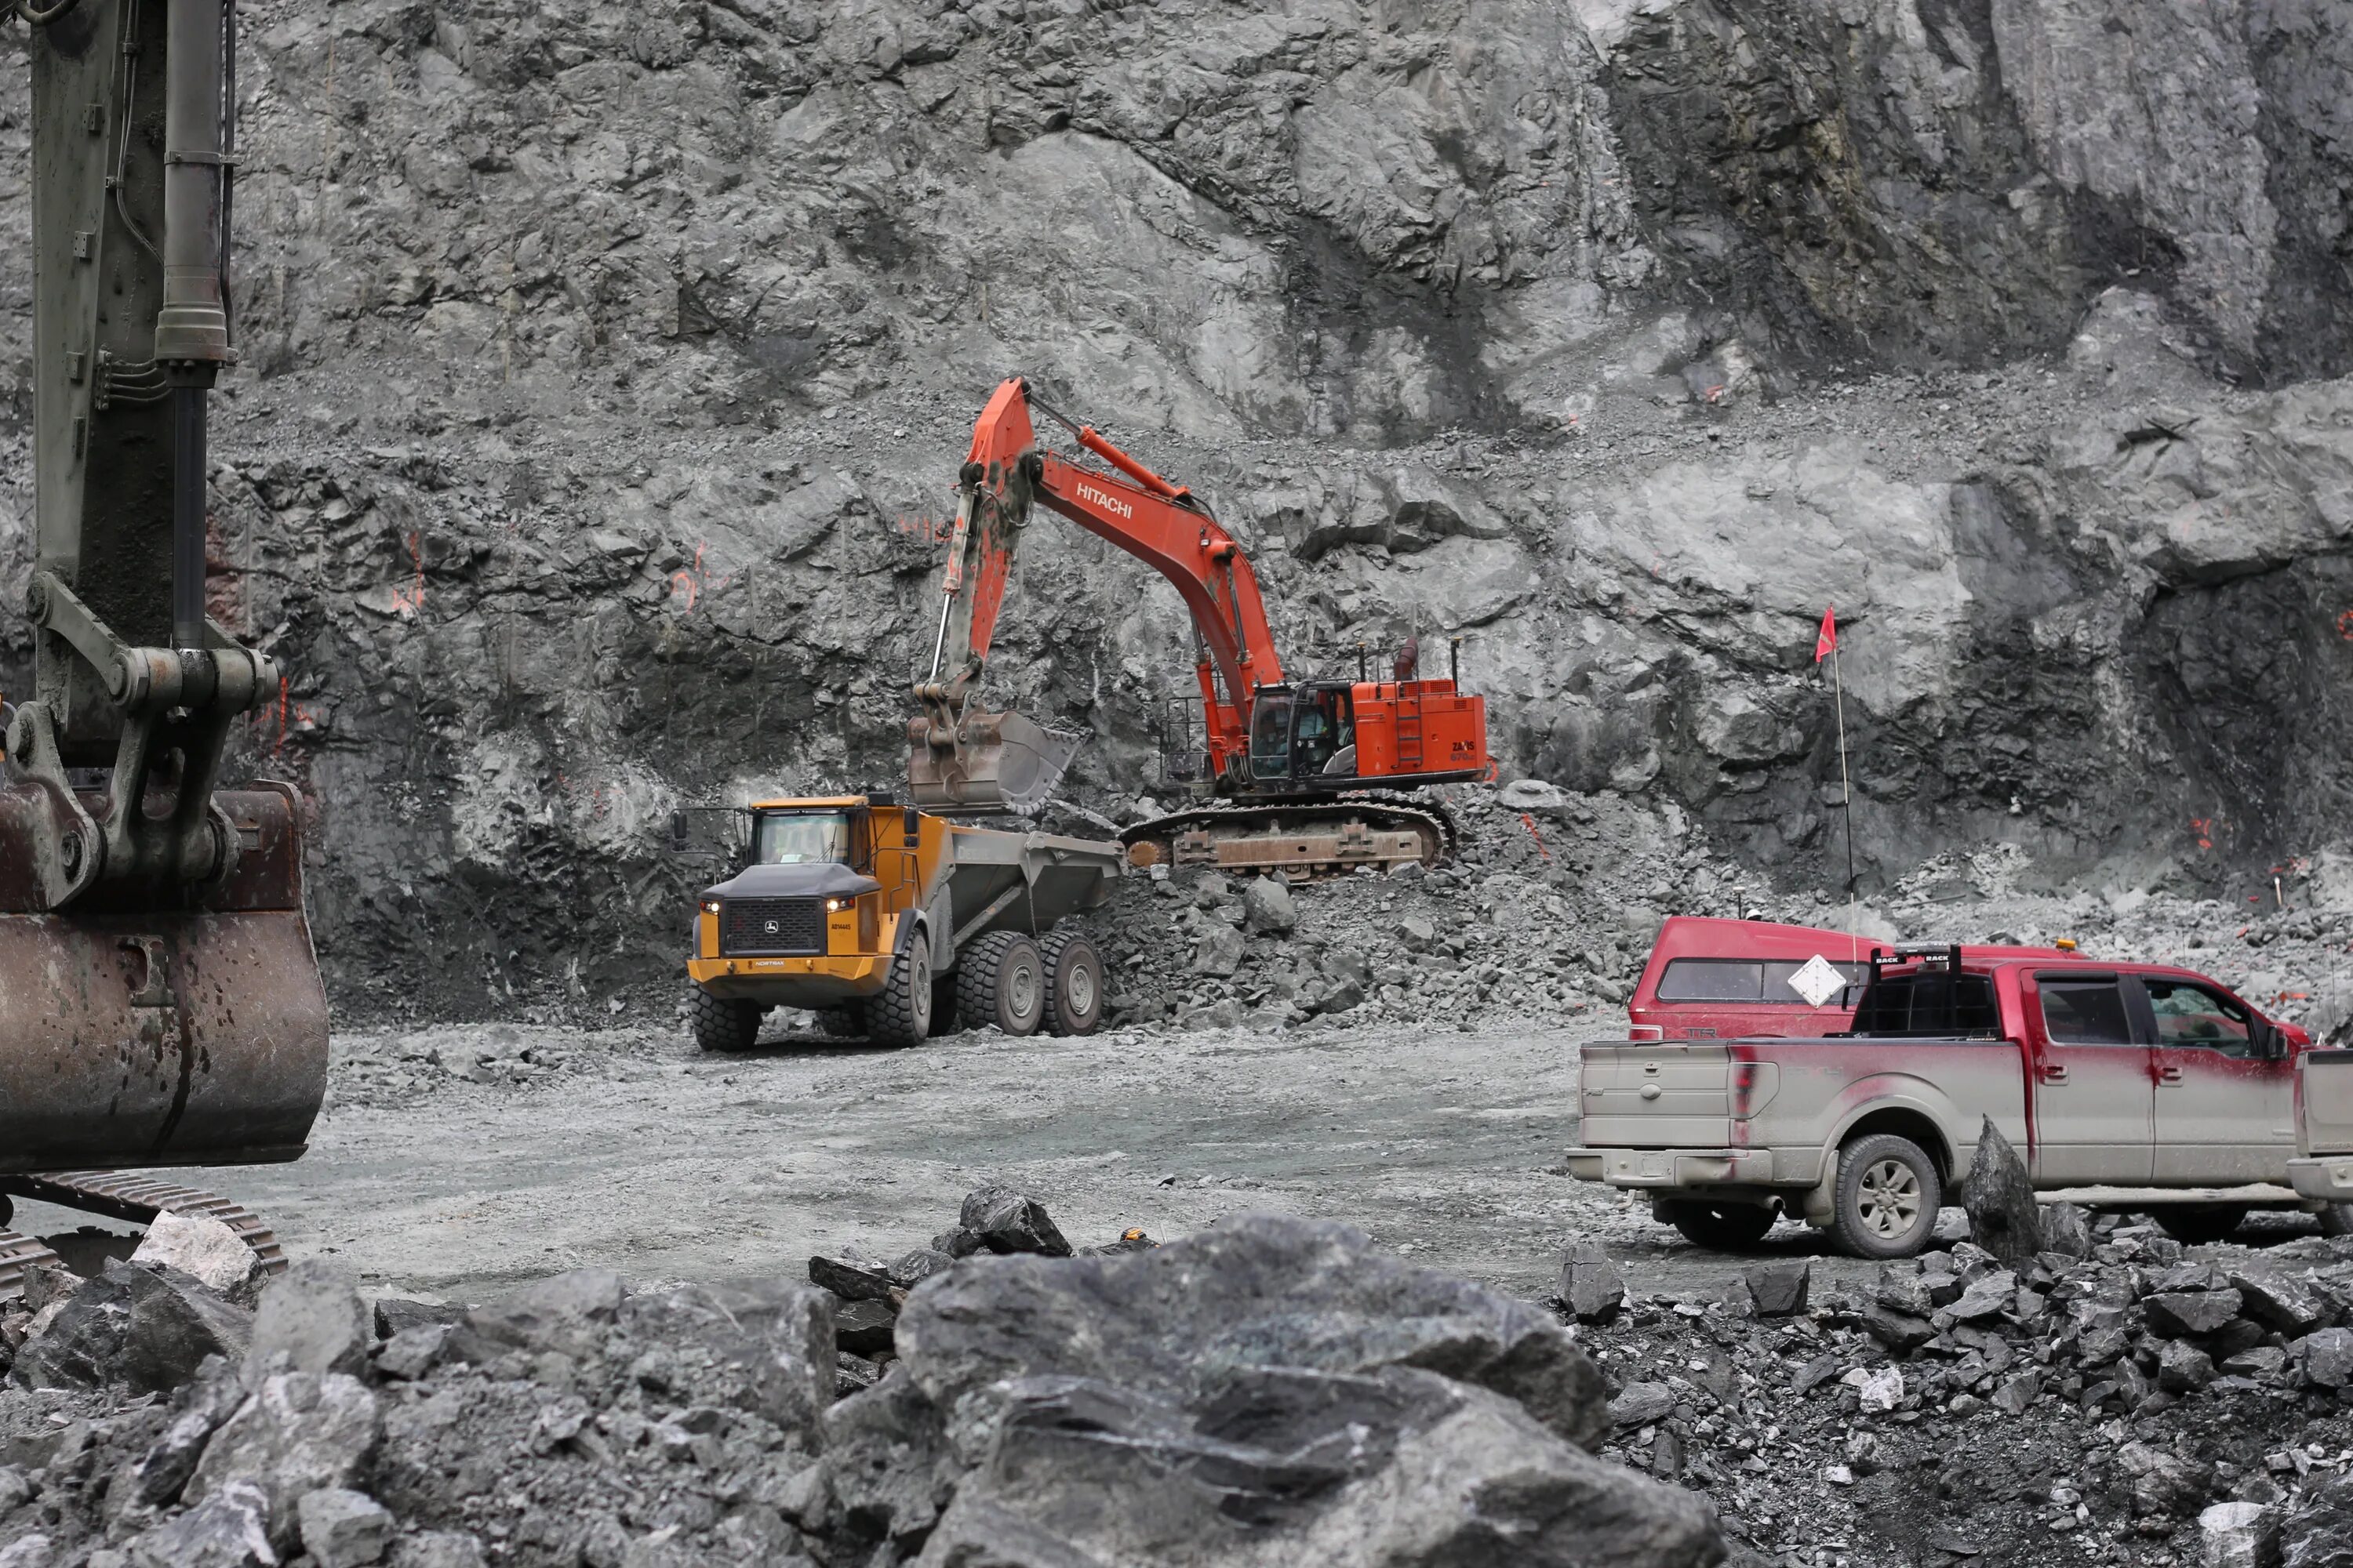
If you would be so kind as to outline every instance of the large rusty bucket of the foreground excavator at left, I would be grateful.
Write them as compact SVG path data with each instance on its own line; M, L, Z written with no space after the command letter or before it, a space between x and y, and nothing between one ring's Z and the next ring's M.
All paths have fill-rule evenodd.
M47 910L40 785L0 769L0 1178L301 1154L327 1088L327 992L292 792L212 797L238 851L193 898Z

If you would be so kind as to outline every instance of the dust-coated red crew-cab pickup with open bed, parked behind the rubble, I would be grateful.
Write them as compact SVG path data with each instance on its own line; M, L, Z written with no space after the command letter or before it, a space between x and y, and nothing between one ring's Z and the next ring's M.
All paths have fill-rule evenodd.
M2344 1197L2287 1190L2306 1046L2186 969L1875 952L1847 1034L1588 1044L1567 1168L1649 1192L1701 1246L1788 1215L1857 1258L1904 1258L1991 1117L2038 1190L2129 1190L2184 1241L2257 1206L2322 1208L2337 1232Z

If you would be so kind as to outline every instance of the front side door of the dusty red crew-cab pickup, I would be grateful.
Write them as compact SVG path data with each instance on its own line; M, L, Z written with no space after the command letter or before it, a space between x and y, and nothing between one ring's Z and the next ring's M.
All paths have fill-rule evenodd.
M2158 1180L2280 1182L2297 1143L2297 1079L2261 1053L2254 1013L2198 980L2132 976L2155 1039Z

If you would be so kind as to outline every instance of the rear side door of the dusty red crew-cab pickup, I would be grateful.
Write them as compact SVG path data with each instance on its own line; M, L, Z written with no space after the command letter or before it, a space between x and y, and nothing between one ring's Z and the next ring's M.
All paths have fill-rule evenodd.
M2040 973L2024 987L2033 1051L2035 1157L2042 1185L2148 1182L2155 1086L2122 976Z

